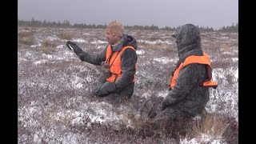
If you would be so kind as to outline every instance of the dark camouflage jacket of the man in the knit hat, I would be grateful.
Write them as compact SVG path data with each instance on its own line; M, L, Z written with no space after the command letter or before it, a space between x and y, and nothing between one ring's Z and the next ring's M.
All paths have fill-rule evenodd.
M133 46L134 49L137 49L137 41L134 37L124 34L121 42L119 42L116 46L112 47L114 51L120 51L124 46ZM106 46L107 47L107 46ZM81 54L80 54L81 55ZM136 73L135 64L137 62L138 56L136 51L132 49L126 49L122 53L122 76L115 81L116 90L112 91L111 94L120 94L130 97L134 94L134 74ZM106 48L102 50L99 54L88 54L86 52L82 52L82 56L80 59L84 62L89 62L94 65L101 65L102 62L106 61ZM106 78L99 78L96 89L94 90L97 93L100 90L101 86L106 82Z

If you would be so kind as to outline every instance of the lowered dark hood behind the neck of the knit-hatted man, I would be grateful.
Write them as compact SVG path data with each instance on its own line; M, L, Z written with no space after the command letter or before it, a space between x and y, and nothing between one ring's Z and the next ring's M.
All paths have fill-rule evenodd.
M137 40L131 35L123 34L121 42L119 42L117 45L113 47L113 51L119 51L124 46L133 46L134 49L137 50Z

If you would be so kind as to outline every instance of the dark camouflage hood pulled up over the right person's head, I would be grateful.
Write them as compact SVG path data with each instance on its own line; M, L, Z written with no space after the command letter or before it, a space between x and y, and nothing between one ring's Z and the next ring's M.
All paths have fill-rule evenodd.
M184 55L187 57L187 53L191 53L191 50L199 51L199 55L202 55L200 32L193 24L186 24L179 27L172 36L176 38L180 59Z

